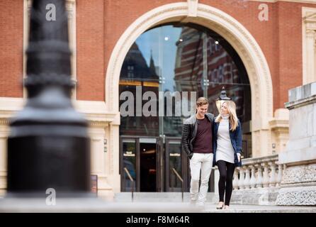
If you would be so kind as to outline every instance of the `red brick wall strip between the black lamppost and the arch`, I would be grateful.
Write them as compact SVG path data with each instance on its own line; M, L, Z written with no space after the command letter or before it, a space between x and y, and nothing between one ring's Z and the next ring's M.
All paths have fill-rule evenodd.
M104 100L103 2L77 0L77 99L81 100Z

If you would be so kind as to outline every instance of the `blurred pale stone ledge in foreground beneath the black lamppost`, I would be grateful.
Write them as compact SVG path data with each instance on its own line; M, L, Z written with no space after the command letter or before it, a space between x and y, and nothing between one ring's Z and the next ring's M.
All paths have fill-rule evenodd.
M0 213L196 213L204 208L175 202L110 202L97 198L56 199L47 205L46 199L0 199Z

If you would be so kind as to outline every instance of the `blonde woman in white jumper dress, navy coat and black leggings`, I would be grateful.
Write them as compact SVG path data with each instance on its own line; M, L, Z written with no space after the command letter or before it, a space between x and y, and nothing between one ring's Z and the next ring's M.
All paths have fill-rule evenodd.
M233 101L222 103L220 114L214 122L213 167L218 165L220 202L217 209L229 209L232 196L232 176L235 167L242 166L242 126L236 115ZM225 194L225 203L224 203Z

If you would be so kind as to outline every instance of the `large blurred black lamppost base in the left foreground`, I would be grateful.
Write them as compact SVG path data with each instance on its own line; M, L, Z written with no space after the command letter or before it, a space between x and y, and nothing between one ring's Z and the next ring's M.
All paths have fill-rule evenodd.
M55 20L47 18L54 6ZM55 9L54 9L55 8ZM33 0L26 106L11 119L9 196L78 196L90 191L87 122L72 107L68 18L64 0Z

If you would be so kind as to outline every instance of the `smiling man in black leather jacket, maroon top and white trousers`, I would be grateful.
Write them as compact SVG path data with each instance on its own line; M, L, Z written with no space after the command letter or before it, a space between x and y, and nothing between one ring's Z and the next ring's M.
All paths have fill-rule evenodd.
M191 203L204 206L208 192L208 179L213 165L213 119L214 115L207 113L208 99L198 98L196 114L184 121L181 145L190 159ZM201 187L198 192L198 182L201 171Z

